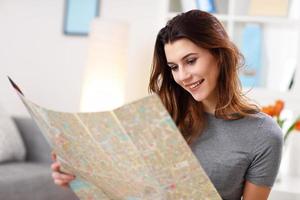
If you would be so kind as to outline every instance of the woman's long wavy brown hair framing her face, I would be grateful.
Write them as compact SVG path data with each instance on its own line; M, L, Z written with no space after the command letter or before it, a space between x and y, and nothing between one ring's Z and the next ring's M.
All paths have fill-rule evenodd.
M167 65L164 46L186 38L208 49L220 67L218 99L215 116L226 120L240 119L258 112L258 107L248 103L238 79L238 69L243 56L229 40L222 24L211 14L191 10L179 14L167 22L156 38L149 91L157 93L176 125L189 144L205 127L203 105L179 86Z

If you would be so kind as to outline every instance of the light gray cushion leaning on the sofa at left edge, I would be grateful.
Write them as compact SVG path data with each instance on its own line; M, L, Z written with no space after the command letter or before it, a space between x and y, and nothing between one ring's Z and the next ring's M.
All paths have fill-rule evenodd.
M0 108L0 163L25 159L25 146L13 120Z

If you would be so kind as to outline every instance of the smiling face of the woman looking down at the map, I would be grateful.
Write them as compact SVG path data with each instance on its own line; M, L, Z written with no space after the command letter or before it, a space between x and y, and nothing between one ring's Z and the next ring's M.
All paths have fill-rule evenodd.
M164 49L176 83L196 101L216 102L219 67L209 50L188 39L168 43Z

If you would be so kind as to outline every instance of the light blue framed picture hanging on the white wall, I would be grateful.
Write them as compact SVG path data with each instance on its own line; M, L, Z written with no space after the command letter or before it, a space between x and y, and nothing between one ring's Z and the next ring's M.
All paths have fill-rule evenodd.
M99 16L100 0L65 0L64 34L86 36Z

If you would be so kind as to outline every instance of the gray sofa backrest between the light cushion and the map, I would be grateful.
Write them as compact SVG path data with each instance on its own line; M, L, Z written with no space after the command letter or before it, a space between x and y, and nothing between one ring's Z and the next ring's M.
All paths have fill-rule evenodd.
M31 118L13 117L26 147L26 161L51 163L51 148Z

